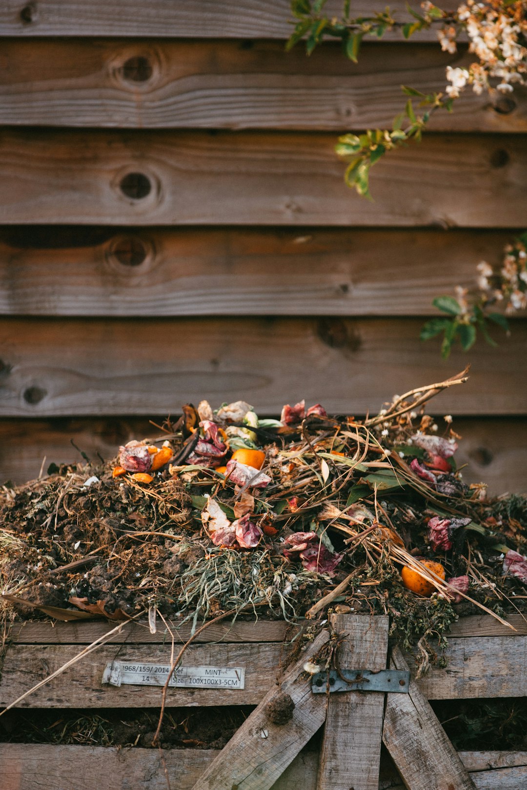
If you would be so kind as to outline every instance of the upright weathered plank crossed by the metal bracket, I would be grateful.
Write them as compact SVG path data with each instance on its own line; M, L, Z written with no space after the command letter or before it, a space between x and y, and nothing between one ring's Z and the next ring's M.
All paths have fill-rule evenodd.
M338 653L343 669L386 669L387 617L333 615L345 633ZM318 790L378 790L384 694L348 691L329 694Z

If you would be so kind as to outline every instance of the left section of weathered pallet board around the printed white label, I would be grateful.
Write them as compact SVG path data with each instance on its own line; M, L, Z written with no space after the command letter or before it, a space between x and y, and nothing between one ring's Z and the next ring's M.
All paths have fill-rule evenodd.
M0 683L0 705L9 705L28 688L51 675L79 653L76 645L12 645L6 653ZM170 664L171 645L104 646L66 670L21 702L24 708L157 708L161 688L102 686L104 668L112 660ZM167 705L258 705L280 674L287 650L277 643L190 645L183 664L191 667L245 667L245 689L171 687Z

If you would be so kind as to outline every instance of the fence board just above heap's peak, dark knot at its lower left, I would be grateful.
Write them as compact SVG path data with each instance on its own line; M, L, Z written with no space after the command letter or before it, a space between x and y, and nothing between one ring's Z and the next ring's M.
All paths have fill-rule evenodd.
M243 397L262 415L305 397L328 412L364 414L394 390L441 381L466 355L439 359L419 340L420 319L2 318L1 416L174 413L206 397ZM450 414L521 413L527 322L499 351L472 350L469 383L435 401ZM503 381L506 380L506 388Z

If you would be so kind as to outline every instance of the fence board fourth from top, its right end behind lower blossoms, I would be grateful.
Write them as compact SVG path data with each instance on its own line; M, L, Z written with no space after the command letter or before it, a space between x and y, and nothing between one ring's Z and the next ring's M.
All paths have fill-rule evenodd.
M0 228L0 314L437 315L514 231ZM386 254L390 250L390 254Z

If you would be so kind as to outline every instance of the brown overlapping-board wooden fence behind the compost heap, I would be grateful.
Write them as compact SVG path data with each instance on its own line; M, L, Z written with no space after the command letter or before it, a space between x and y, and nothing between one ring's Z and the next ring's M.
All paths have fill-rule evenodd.
M404 13L404 3L401 6ZM340 2L329 10L338 13ZM367 12L370 0L354 4ZM337 134L444 85L434 36L284 52L288 0L0 8L0 479L114 452L186 401L356 415L472 361L437 401L466 480L524 491L525 318L439 359L431 299L525 226L527 95L467 94L347 190Z

